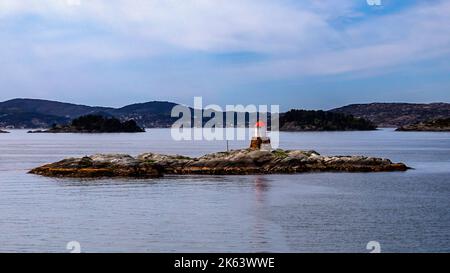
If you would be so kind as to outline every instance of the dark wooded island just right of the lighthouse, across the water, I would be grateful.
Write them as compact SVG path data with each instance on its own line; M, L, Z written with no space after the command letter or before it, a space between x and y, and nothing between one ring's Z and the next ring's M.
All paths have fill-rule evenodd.
M280 116L280 131L354 131L375 130L363 118L326 111L291 110Z

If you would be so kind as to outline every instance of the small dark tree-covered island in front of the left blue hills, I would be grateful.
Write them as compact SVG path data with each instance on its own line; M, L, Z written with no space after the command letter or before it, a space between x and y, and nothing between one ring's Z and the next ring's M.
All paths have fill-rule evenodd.
M30 131L29 133L141 133L144 129L134 120L121 122L114 117L86 115L74 119L68 125L54 124L48 130Z

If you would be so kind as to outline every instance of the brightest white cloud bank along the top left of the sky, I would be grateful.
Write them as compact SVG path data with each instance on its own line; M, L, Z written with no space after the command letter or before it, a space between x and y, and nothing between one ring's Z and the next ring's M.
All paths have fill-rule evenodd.
M313 11L268 0L2 0L0 16L98 24L124 36L188 50L281 51L328 31Z

